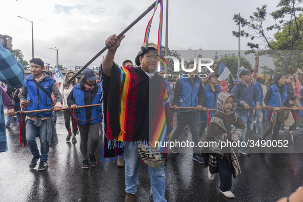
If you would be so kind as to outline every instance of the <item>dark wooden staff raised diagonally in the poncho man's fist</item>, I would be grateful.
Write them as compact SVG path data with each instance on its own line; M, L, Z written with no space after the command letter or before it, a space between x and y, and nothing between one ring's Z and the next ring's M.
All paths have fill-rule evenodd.
M155 8L156 5L155 1L150 7L148 7L148 9L146 11L144 11L139 17L137 17L137 19L135 19L134 22L132 22L127 28L125 28L125 30L123 30L118 36L117 38L120 38L123 34L125 34L130 28L132 28L137 22L140 21L140 19L142 19L147 13L149 13L153 8ZM159 1L158 3L160 3L161 1ZM81 73L83 70L85 70L97 57L99 57L104 51L106 51L108 49L107 46L105 46L102 50L100 50L100 52L98 52L91 60L89 60L89 62L83 66L82 69L80 69L79 71L77 71L73 77L71 77L67 83L69 84L79 73Z

